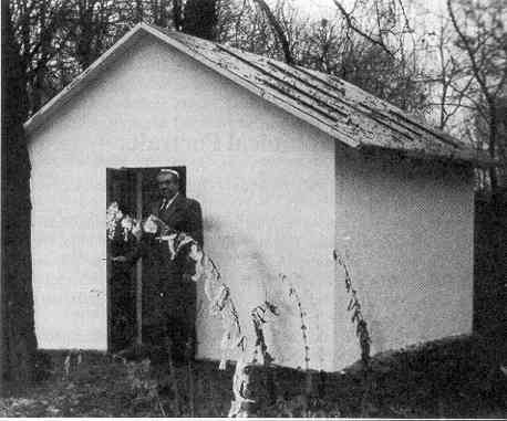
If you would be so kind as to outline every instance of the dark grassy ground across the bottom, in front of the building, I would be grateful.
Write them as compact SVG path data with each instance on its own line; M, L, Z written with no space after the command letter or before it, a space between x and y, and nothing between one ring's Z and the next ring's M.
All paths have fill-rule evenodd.
M173 367L151 355L52 356L45 379L0 399L0 417L226 417L234 367ZM260 417L505 418L505 338L459 337L377 355L342 372L281 367L251 371L250 408ZM503 370L504 367L504 370ZM310 392L307 385L310 382Z

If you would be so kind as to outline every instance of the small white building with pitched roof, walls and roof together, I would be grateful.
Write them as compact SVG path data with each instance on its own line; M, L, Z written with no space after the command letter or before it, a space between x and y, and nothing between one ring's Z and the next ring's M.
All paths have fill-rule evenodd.
M241 323L266 298L280 307L266 327L276 364L304 365L280 273L307 312L310 366L360 357L337 253L372 352L472 330L473 166L486 158L346 82L141 23L25 128L41 348L107 349L105 209L120 168L185 171ZM197 335L198 357L218 359L206 303Z

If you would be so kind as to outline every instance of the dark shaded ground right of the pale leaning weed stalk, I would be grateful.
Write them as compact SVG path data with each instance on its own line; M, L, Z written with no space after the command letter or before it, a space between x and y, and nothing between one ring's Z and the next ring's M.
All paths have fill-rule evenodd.
M315 372L310 415L505 418L507 377L499 366L506 356L498 338L461 337L376 355L370 371L358 362L340 373ZM275 371L278 391L262 396L257 414L303 415L297 385L304 373Z

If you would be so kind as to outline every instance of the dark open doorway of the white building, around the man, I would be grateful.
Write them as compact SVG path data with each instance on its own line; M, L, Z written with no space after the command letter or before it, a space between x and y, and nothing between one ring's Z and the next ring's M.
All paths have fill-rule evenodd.
M149 203L158 200L156 175L163 168L178 171L179 192L186 196L186 168L183 166L107 168L106 204L116 201L124 213L136 219L146 218ZM112 352L143 341L143 291L152 284L153 280L148 278L152 272L143 269L142 259L134 266L111 263L112 256L127 254L134 241L107 240L107 349Z

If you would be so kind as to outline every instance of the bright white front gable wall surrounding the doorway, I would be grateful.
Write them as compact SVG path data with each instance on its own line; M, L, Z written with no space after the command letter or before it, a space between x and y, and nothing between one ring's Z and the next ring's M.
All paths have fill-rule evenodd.
M332 369L334 143L193 59L144 39L32 136L35 329L43 348L106 348L106 168L186 166L205 244L240 308L267 296L276 362L303 366L293 274L314 368ZM199 298L203 299L200 291ZM205 305L205 309L207 306ZM198 355L221 327L198 319Z

